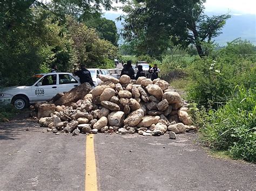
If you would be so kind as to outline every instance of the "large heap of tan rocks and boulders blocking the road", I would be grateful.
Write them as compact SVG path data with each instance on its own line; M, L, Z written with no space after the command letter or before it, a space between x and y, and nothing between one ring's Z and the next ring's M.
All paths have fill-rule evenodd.
M127 75L119 80L105 75L99 75L99 78L103 83L94 89L87 83L81 85L89 91L83 95L83 100L69 105L58 105L61 103L58 100L55 102L57 106L53 103L39 105L39 123L53 133L61 131L73 135L137 132L158 136L169 131L175 135L195 129L190 126L188 108L183 107L180 95L169 89L168 82L151 81L146 77L130 80ZM63 100L62 97L59 99Z

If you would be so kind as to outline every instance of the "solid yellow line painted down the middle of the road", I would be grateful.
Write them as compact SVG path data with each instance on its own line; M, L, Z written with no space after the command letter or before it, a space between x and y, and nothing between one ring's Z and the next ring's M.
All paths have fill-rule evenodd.
M95 152L94 152L94 135L86 137L86 154L85 154L85 190L86 191L95 191L97 188L97 172L96 172L96 161L95 161Z

